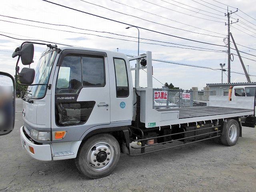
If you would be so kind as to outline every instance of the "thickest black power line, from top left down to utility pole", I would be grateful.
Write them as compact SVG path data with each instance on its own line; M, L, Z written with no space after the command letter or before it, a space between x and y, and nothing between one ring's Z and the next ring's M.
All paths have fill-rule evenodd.
M54 2L50 2L50 1L48 1L48 0L42 0L42 1L45 1L45 2L48 2L48 3L51 3L51 4L55 4L55 5L64 7L64 8L68 8L68 9L71 9L71 10L75 10L75 11L78 11L78 12L82 12L82 13L85 13L85 14L89 14L89 15L92 15L92 16L96 16L96 17L99 17L99 18L103 18L103 19L106 19L106 20L118 22L118 23L120 23L120 24L125 24L125 25L128 25L128 26L134 26L134 25L132 25L132 24L128 24L128 23L120 22L120 21L113 20L113 19L110 19L110 18L98 16L98 15L95 15L95 14L92 14L92 13L84 12L84 11L81 11L81 10L78 10L78 9L74 9L74 8L71 8L71 7L68 7L68 6L64 6L64 5L61 5L61 4L57 4L57 3L54 3ZM204 44L209 44L209 45L215 45L215 46L225 47L225 46L223 46L223 45L211 44L211 43L196 41L196 40L192 40L192 39L182 38L182 37L179 37L179 36L174 36L174 35L166 34L166 33L163 33L163 32L158 32L158 31L155 31L155 30L150 30L150 29L147 29L147 28L139 27L139 26L134 26L134 27L138 27L138 28L140 28L140 29L144 29L144 30L147 30L147 31L150 31L150 32L155 32L155 33L158 33L158 34L163 34L163 35L167 35L167 36L171 36L171 37L175 37L175 38L180 38L180 39L184 39L184 40L189 40L189 41L193 41L193 42L198 42L198 43L204 43Z

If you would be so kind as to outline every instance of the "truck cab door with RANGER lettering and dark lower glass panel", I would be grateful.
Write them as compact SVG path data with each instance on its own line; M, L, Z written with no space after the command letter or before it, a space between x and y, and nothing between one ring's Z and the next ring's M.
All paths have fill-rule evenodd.
M64 50L58 61L54 130L84 133L110 124L110 88L106 53ZM57 73L57 72L56 72ZM76 129L74 129L76 128ZM81 136L80 134L78 134Z

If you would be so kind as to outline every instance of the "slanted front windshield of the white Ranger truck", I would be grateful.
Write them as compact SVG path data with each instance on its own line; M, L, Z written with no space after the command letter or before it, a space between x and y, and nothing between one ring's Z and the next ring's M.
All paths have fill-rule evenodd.
M33 84L48 84L49 76L57 55L57 50L49 48L42 53L35 69L35 78ZM30 98L42 98L46 92L46 85L28 86L28 96Z

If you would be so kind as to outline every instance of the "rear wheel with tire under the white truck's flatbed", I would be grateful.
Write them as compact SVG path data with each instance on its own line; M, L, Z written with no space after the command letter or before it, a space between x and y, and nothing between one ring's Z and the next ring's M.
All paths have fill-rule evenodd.
M234 119L224 122L222 136L220 136L220 141L226 146L234 146L239 138L240 126L238 122Z

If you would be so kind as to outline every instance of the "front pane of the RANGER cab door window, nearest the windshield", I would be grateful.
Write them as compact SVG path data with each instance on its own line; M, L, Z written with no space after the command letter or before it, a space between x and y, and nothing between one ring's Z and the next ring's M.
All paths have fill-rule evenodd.
M82 86L81 56L67 54L58 73L56 93L77 93Z

